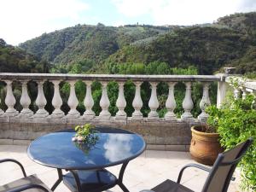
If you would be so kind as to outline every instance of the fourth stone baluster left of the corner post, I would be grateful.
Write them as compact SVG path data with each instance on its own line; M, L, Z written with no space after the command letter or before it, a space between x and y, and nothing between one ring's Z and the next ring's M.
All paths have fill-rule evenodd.
M148 107L150 108L151 111L148 113L148 119L156 120L156 119L159 119L159 114L156 112L156 109L159 107L159 102L156 94L156 85L158 83L151 82L150 84L151 84L151 96L148 102Z

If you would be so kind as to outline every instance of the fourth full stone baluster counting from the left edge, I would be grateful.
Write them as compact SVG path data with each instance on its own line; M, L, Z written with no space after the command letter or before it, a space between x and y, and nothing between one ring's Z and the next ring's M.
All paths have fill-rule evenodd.
M54 84L55 87L55 93L52 98L52 106L55 108L55 110L52 112L51 117L52 118L62 118L64 117L64 112L61 110L61 105L62 105L62 99L61 99L61 94L60 94L60 86L59 84L61 83L61 80L52 80L51 81Z

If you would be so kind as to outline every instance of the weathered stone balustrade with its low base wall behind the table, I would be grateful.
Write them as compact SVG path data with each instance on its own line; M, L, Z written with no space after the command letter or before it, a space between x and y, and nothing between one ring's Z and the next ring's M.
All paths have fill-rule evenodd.
M237 76L236 76L237 77ZM210 104L209 89L212 82L218 82L217 105L220 106L226 96L226 91L230 87L235 96L245 96L246 94L255 94L255 81L231 80L227 74L218 75L105 75L105 74L44 74L44 73L0 73L0 93L2 101L0 101L0 143L23 144L30 140L43 135L45 132L57 131L66 128L72 128L74 125L82 125L90 122L99 126L111 126L135 131L143 135L148 143L148 148L165 149L165 150L182 150L189 149L191 139L190 127L205 123L208 114L205 108ZM239 78L238 78L239 79ZM86 85L83 90L82 97L85 111L77 110L79 103L78 96L75 91L76 82ZM82 83L81 83L82 81ZM93 82L102 84L102 96L100 101L93 99ZM108 98L107 85L115 81L119 86L119 93L115 102L118 108L117 113L110 113L110 101ZM135 85L135 90L127 97L124 84L129 81ZM34 82L31 84L31 82ZM60 84L64 82L70 85L68 98L60 91ZM151 86L150 98L147 103L141 95L143 82L148 82ZM168 84L168 92L166 92L166 100L159 101L157 85L161 82ZM177 86L178 83L185 84L183 90ZM202 97L199 107L201 113L198 117L192 115L191 110L195 108L192 100L192 85L200 82L202 84ZM36 85L35 85L36 83ZM177 84L177 86L175 86ZM230 86L230 85L231 86ZM46 100L47 92L45 88L52 90L52 97ZM15 88L15 89L14 89ZM68 90L68 89L67 89ZM20 94L15 94L15 92ZM33 94L29 94L33 91ZM79 90L82 91L82 90ZM97 90L99 91L99 90ZM180 98L177 102L175 92L184 91L182 102L183 113L179 116L174 113L177 104L181 104ZM4 93L4 94L3 94ZM77 92L78 93L78 92ZM17 95L20 95L17 97ZM32 96L32 98L30 97ZM126 96L126 97L125 97ZM20 99L19 99L20 97ZM131 98L132 97L132 98ZM1 97L0 97L1 98ZM111 98L111 97L110 97ZM129 101L125 100L129 98ZM81 98L80 98L81 100ZM48 103L47 103L48 102ZM50 103L49 103L50 102ZM65 103L64 103L65 102ZM67 102L67 103L66 103ZM99 102L99 103L98 103ZM166 107L164 117L160 118L157 109L163 105ZM128 104L127 104L128 103ZM126 106L130 105L132 106ZM198 102L197 102L198 103ZM32 105L31 105L32 104ZM68 105L69 111L62 111L63 104ZM99 104L99 106L98 106ZM34 108L36 105L37 108ZM46 105L52 106L53 110L46 110ZM96 111L93 106L101 108ZM143 105L147 105L149 113L143 116ZM62 106L62 108L61 108ZM80 106L81 107L81 106ZM113 107L113 103L112 103ZM125 107L133 108L134 112L127 115ZM31 110L33 108L33 111ZM67 110L67 108L66 108ZM99 111L101 111L99 113ZM176 111L176 110L175 110Z

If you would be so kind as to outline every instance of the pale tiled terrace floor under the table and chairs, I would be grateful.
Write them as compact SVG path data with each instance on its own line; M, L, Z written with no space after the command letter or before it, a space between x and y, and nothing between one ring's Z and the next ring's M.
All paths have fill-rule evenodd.
M52 186L57 178L55 169L40 166L30 160L26 155L26 146L17 145L0 145L0 159L14 158L19 160L25 166L26 173L37 174L44 183ZM142 189L151 189L158 183L163 182L166 178L177 180L177 174L182 166L194 162L190 159L189 153L172 152L172 151L154 151L147 150L135 160L128 164L124 183L131 192L137 192ZM110 167L109 170L118 174L120 166ZM9 183L22 176L18 166L12 163L0 164L0 185ZM184 172L182 183L195 191L201 191L207 174L195 169L189 169ZM230 183L229 192L240 191L236 182ZM61 183L56 192L68 192L66 186ZM109 189L108 192L119 192L119 187Z

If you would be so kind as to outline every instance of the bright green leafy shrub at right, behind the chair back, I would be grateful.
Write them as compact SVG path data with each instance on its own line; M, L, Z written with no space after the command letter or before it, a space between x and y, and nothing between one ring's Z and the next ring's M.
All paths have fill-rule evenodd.
M221 108L207 108L210 118L207 123L218 127L220 143L226 148L233 148L238 143L253 137L251 146L241 160L242 189L256 189L256 110L253 108L255 96L248 95L245 99L230 97Z

